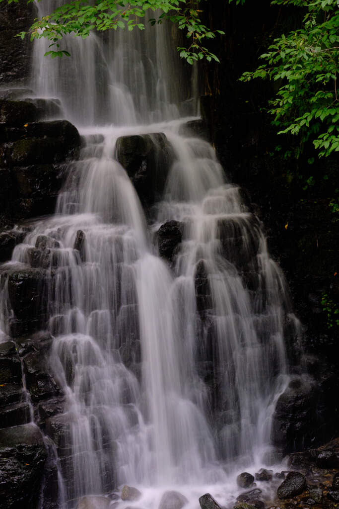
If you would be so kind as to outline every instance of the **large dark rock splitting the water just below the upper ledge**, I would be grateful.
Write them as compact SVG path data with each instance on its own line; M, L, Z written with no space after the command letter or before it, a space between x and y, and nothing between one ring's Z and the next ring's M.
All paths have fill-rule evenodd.
M173 150L165 134L121 136L116 155L145 206L159 201L173 161Z

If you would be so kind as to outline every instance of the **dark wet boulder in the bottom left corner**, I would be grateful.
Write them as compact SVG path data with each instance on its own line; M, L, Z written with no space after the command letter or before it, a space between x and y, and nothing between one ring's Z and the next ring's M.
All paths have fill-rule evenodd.
M35 425L0 430L0 493L7 509L36 507L45 461L43 437Z

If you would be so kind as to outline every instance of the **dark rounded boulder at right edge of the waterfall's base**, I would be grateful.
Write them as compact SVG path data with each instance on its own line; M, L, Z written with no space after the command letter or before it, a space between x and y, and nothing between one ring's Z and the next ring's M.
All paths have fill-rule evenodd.
M272 439L286 452L301 448L314 420L318 390L315 382L306 376L294 376L275 406Z

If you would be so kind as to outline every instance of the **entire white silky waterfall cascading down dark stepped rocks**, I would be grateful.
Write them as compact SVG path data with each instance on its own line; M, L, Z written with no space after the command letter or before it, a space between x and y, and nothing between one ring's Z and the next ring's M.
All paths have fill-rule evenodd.
M192 508L204 491L226 504L231 472L264 461L288 381L284 277L211 146L179 135L189 119L173 119L193 102L182 106L169 33L155 30L70 38L72 60L62 62L42 59L44 41L35 46L37 96L60 98L86 140L55 215L35 223L11 262L29 266L45 239L51 364L67 398L70 450L60 507L125 483L139 487L143 509L157 509L170 486ZM115 147L119 136L155 132L174 162L148 228ZM169 220L182 231L171 267L152 238Z

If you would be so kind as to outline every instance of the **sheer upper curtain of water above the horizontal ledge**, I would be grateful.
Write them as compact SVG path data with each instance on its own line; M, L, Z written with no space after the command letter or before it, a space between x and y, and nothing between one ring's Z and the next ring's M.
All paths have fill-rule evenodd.
M39 17L55 9L55 0L38 5ZM146 30L91 32L64 37L71 58L44 57L48 39L34 42L30 85L38 97L59 98L67 118L77 125L136 125L193 115L196 77L178 59L178 31L170 22ZM64 47L64 46L63 46ZM192 76L196 76L195 73Z

